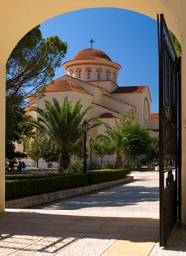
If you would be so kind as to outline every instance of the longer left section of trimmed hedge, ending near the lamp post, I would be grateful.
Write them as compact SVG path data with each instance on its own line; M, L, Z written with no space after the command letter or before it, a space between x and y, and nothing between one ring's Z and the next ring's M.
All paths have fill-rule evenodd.
M6 180L6 200L40 195L88 185L88 175L68 174L42 179Z

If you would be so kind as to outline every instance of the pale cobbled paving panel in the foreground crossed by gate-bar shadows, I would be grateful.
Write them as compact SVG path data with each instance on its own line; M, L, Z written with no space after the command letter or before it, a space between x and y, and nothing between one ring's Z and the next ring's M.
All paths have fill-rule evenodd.
M100 256L121 237L121 234L27 233L1 230L0 255Z

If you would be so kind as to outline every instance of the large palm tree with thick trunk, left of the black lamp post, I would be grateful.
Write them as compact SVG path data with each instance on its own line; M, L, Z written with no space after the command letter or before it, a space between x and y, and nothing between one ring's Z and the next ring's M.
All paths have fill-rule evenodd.
M31 124L45 134L59 150L59 173L66 170L70 164L70 154L82 138L82 120L91 108L93 107L89 106L82 111L81 100L78 100L73 107L72 101L65 97L61 106L57 99L53 99L52 103L45 100L44 109L38 107L32 109L38 113L38 119L31 121ZM89 129L103 124L96 117L90 118L88 122L93 123Z

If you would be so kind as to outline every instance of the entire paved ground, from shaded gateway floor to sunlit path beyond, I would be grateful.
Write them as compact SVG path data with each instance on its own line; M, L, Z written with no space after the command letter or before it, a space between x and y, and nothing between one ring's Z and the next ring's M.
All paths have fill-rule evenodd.
M0 256L185 255L185 230L171 236L167 250L155 243L159 173L132 175L135 180L129 184L33 209L7 209L0 214Z

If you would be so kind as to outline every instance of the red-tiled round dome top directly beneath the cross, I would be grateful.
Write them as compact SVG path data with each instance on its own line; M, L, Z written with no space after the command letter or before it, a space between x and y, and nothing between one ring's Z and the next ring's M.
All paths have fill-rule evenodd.
M105 52L98 49L84 49L78 52L72 60L104 60L112 61L111 58Z

